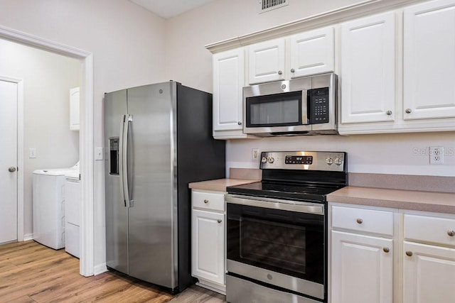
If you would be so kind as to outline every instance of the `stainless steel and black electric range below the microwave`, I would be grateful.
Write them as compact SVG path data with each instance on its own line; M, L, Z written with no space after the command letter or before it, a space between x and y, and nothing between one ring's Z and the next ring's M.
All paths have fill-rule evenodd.
M342 152L264 152L262 182L228 187L228 302L327 302L326 195Z

